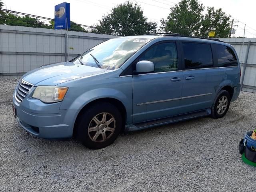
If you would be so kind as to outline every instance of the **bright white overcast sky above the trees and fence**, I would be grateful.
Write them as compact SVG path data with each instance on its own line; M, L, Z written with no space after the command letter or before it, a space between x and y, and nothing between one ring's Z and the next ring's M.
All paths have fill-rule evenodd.
M170 7L180 0L130 0L138 3L144 10L144 16L148 20L158 22L167 18ZM9 10L54 18L54 6L64 2L64 0L2 0ZM112 7L126 2L126 0L66 0L70 3L70 18L78 24L93 25L103 15L110 13ZM235 26L234 36L243 36L244 24L246 24L245 37L256 37L256 0L199 0L205 7L222 8L222 11L231 15L230 20L239 21Z

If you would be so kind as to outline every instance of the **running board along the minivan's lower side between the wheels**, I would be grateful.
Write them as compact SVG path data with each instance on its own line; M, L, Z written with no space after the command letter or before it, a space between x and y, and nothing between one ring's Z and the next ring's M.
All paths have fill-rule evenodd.
M170 123L184 121L184 120L193 119L193 118L197 118L197 117L208 116L210 114L211 114L211 110L206 109L206 110L201 110L201 111L192 112L192 113L186 113L186 114L168 117L168 118L162 118L162 119L157 119L157 120L152 120L152 121L147 121L147 122L142 122L142 123L130 124L130 125L126 125L126 131L141 130L141 129L145 129L145 128L170 124Z

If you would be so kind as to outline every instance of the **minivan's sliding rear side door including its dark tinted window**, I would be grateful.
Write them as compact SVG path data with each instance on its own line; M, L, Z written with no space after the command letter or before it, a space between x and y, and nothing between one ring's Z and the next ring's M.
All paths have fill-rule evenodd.
M213 70L212 46L208 42L181 41L183 90L179 114L212 106L213 88L207 75Z

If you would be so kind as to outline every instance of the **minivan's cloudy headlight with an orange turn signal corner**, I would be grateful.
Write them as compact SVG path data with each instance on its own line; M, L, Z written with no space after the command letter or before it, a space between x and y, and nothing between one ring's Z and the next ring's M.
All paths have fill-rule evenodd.
M45 103L54 103L62 101L67 90L67 87L38 86L32 97Z

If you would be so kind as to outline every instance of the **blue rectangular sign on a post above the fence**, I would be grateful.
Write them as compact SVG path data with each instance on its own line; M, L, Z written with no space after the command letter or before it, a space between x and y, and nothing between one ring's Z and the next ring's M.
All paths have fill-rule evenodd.
M54 9L54 29L70 28L70 3L61 3Z

